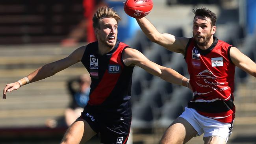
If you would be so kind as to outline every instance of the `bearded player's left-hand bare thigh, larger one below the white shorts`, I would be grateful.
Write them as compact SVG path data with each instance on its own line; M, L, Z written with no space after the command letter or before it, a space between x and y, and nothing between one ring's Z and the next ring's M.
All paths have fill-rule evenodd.
M160 144L183 144L197 135L197 131L185 120L178 117L165 131Z

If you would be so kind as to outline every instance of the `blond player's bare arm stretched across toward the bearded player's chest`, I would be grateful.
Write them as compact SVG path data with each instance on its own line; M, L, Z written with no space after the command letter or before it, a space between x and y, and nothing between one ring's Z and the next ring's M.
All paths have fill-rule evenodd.
M145 57L141 52L132 48L126 48L122 55L124 64L126 66L137 65L150 74L160 77L161 79L177 85L186 86L189 85L187 82L189 79L185 78L175 70L160 66Z

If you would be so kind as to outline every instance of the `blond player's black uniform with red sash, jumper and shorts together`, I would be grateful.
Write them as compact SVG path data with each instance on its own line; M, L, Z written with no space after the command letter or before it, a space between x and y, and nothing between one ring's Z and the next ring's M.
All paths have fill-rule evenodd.
M88 104L80 118L101 135L106 144L125 144L132 120L131 87L134 66L125 66L122 52L129 46L117 41L113 50L98 54L98 42L85 48L82 64L91 77Z

